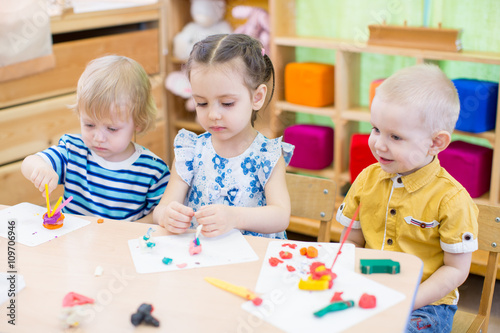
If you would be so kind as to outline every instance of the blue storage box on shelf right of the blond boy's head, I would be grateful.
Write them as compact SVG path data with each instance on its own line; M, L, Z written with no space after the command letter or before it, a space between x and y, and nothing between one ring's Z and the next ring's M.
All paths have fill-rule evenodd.
M480 133L495 128L498 83L473 79L452 80L460 98L460 115L455 128Z

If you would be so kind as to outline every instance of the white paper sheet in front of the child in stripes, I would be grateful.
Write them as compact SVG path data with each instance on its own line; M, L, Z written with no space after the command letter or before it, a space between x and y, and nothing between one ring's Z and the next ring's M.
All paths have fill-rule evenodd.
M23 202L0 210L0 236L8 238L8 221L15 218L16 242L28 246L36 246L61 237L68 232L90 224L90 221L65 214L64 224L59 229L49 230L43 226L43 214L47 208Z

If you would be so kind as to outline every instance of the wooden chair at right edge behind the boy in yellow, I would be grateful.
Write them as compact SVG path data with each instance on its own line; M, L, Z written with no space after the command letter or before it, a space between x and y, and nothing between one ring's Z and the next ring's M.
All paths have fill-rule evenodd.
M477 314L457 311L453 320L452 333L486 333L488 331L498 268L498 252L500 252L500 207L479 204L477 206L479 207L479 249L488 252L479 311Z

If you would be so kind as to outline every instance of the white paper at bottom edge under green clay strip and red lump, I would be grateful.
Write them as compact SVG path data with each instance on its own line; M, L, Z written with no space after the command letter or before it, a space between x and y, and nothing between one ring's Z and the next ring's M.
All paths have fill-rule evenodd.
M243 322L250 327L266 321L286 332L341 332L352 325L401 302L405 295L374 282L343 266L335 264L332 289L324 291L305 291L298 288L298 279L290 278L281 281L281 287L275 288L261 298L260 306L245 302L242 308L249 312ZM343 300L353 300L355 306L346 310L328 313L321 318L313 315L330 303L335 292L343 292ZM374 295L377 305L373 309L362 309L358 306L363 293Z

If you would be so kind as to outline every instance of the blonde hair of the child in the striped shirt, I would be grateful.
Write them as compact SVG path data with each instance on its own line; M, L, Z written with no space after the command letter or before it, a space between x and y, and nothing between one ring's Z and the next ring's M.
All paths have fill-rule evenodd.
M127 57L109 55L89 62L78 80L72 108L92 119L111 119L112 110L130 111L138 134L154 128L156 104L144 68ZM125 118L130 114L118 114Z

